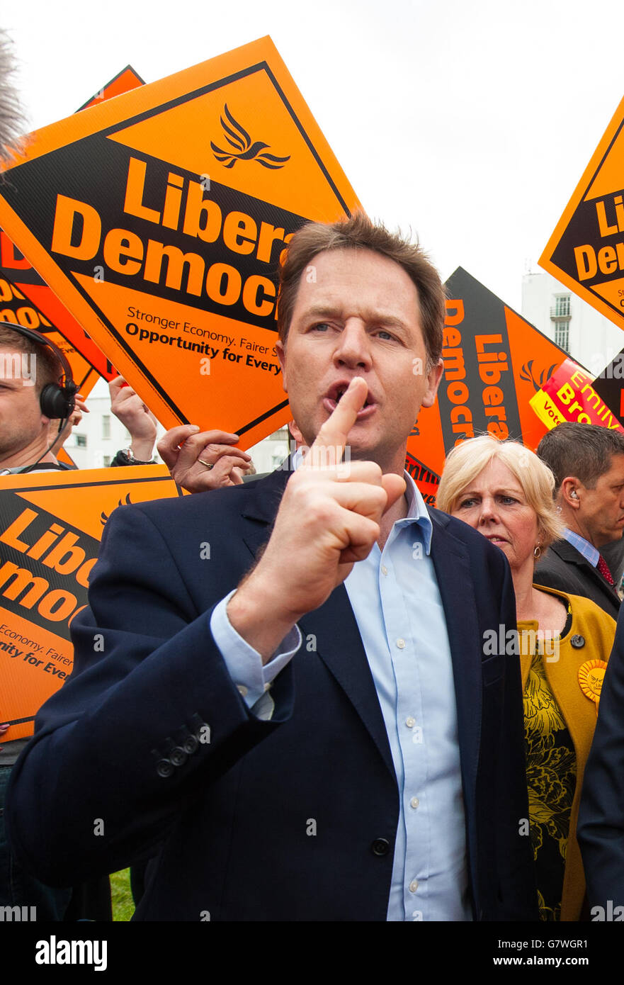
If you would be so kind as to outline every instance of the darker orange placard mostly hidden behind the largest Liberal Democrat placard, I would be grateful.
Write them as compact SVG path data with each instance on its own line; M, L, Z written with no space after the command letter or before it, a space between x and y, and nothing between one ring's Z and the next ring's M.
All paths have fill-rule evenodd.
M143 79L130 65L127 65L81 108L94 105L103 99L111 99L120 93L127 93L143 84ZM110 361L94 345L84 328L50 291L3 230L0 230L0 270L11 285L13 293L19 295L23 302L17 305L16 317L13 320L26 328L43 332L58 345L72 367L74 379L79 384L78 389L83 396L86 397L91 392L98 374L107 380L117 375ZM6 293L2 291L3 301L6 300ZM4 309L0 311L0 317L3 314ZM3 320L11 319L7 317ZM59 333L64 341L59 339Z

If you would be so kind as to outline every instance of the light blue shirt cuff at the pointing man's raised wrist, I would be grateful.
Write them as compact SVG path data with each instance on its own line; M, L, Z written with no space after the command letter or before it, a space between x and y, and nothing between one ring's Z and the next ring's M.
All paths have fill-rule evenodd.
M294 625L281 640L271 660L263 665L258 651L236 632L227 618L225 610L233 594L233 591L230 592L215 606L210 627L229 676L247 707L253 709L301 646L301 632L298 625Z

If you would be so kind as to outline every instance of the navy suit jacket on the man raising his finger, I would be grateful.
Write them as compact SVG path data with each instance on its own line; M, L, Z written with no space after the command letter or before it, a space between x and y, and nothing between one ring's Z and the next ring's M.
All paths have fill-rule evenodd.
M137 919L386 919L399 793L344 587L300 620L316 652L304 643L274 682L271 721L246 707L210 631L268 540L287 478L109 520L91 609L73 625L74 674L39 712L12 779L10 837L42 881L79 882L151 852ZM483 649L487 629L515 626L511 574L480 534L431 515L474 915L530 919L519 659Z

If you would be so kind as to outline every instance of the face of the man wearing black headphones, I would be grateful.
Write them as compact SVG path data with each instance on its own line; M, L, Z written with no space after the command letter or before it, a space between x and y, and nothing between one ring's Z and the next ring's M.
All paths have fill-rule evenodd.
M41 414L36 387L25 385L9 371L14 352L0 347L0 462L26 448L43 431L47 434L48 418Z

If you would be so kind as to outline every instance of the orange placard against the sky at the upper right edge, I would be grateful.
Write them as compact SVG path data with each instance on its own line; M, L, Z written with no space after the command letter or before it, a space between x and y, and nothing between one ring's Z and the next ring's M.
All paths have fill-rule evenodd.
M624 99L539 264L624 328Z

